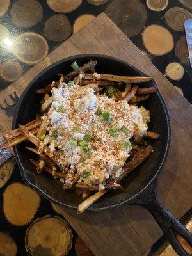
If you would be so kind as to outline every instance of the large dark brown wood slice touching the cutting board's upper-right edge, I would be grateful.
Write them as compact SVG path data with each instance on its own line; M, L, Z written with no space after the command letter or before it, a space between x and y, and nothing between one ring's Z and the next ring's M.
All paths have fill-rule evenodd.
M145 6L140 0L114 0L105 13L129 37L138 35L147 20Z

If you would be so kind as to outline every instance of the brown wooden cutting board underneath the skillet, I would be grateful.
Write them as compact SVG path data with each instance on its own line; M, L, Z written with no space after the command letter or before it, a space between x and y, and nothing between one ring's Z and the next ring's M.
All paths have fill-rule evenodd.
M20 96L29 81L51 63L84 53L115 56L140 68L157 81L170 111L173 134L170 154L159 177L158 194L163 204L180 218L192 205L191 105L104 13L0 92L1 102L8 100L8 95L14 91ZM10 128L12 120L4 111L1 111L0 118L3 120L0 129ZM113 211L92 214L85 212L81 215L66 209L62 209L62 212L97 256L142 255L162 236L152 216L137 206L124 206Z

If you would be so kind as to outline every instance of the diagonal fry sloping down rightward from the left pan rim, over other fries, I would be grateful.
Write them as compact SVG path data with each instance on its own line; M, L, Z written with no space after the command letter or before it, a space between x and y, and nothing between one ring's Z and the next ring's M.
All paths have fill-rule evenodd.
M42 141L40 141L38 138L36 138L36 136L34 136L31 132L29 132L28 129L26 129L26 127L19 125L19 129L20 129L20 132L22 132L22 134L26 136L26 138L28 138L29 141L31 141L36 147L40 148L61 169L61 166L58 163L58 156L56 156L54 152L51 152L49 147L44 145Z

